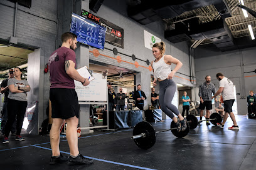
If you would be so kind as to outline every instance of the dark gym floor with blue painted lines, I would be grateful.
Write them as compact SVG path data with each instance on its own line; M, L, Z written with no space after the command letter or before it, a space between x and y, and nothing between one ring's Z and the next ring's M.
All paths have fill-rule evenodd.
M0 169L256 169L256 119L236 118L237 131L227 129L233 124L230 118L224 129L204 121L181 139L171 131L157 134L156 144L147 150L130 139L132 129L94 131L78 140L80 153L95 159L88 166L50 166L49 136L23 135L25 141L9 136L9 144L0 144ZM168 119L152 125L158 131L169 129L170 123ZM65 139L60 151L69 155Z

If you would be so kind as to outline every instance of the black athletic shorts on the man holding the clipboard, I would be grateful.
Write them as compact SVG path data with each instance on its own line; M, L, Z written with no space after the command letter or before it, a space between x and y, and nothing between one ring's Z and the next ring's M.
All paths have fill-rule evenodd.
M50 89L51 118L79 118L79 105L75 89Z

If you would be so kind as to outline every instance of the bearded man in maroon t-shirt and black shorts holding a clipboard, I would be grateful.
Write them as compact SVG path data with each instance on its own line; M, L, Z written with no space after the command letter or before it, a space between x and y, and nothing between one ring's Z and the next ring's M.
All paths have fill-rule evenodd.
M90 82L83 78L75 69L75 49L77 48L77 36L66 32L61 36L62 46L54 51L49 60L50 69L50 101L51 118L53 124L50 131L52 156L50 164L68 161L67 156L60 153L60 128L64 121L67 122L67 139L70 148L69 164L91 164L93 159L84 158L78 151L77 126L79 118L79 106L75 91L74 79L80 81L83 86Z

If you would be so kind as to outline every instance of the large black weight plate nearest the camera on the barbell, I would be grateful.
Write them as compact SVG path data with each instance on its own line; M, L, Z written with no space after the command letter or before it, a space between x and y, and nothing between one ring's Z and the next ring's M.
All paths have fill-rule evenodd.
M154 127L145 121L137 123L133 130L133 136L145 133L145 138L134 139L134 143L141 149L149 149L156 143L156 131Z

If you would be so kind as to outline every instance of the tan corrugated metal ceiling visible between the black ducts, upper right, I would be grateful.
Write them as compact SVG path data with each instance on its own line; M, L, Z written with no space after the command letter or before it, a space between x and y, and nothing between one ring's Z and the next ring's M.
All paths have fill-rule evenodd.
M248 24L252 25L253 32L256 32L256 18L253 17L248 12L248 17L243 16L241 8L238 8L237 5L240 3L238 0L224 0L227 2L228 7L230 8L231 17L227 17L225 22L227 22L228 28L230 29L233 38L250 36L248 30ZM256 1L255 0L244 0L245 6L256 11ZM206 22L211 22L216 19L220 19L220 13L216 10L214 5L204 6L202 8L193 9L191 11L183 12L183 14L170 18L164 19L169 25L175 24L176 22L186 21L192 19L193 17L198 17L198 20L201 24ZM209 39L201 42L201 44L211 43Z

